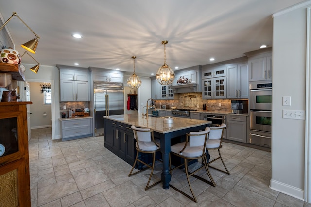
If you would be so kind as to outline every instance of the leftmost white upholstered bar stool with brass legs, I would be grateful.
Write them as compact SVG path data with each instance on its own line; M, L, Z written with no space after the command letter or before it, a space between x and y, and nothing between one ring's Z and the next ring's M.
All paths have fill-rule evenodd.
M149 129L149 128L137 128L134 125L131 126L131 128L133 129L134 132L134 138L136 139L136 150L137 150L137 154L136 154L136 159L135 162L133 164L132 170L129 173L128 176L131 175L136 175L139 172L146 170L148 168L151 168L151 173L149 176L149 180L148 183L145 187L145 191L153 186L155 186L156 184L160 183L161 180L157 181L156 183L154 183L153 185L149 186L151 177L153 175L154 172L154 166L155 166L155 153L160 151L160 146L159 143L155 142L155 138L154 138L154 132L153 130ZM152 165L149 165L147 163L145 163L144 161L138 159L138 153L149 153L152 154ZM136 165L137 162L140 162L142 164L144 164L146 167L143 168L142 170L139 170L135 173L132 173L134 170L134 167Z

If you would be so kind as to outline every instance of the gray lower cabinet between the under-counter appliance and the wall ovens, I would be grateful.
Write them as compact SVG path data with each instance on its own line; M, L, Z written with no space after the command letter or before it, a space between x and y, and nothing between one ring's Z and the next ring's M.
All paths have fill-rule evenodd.
M227 115L227 139L246 143L246 116Z

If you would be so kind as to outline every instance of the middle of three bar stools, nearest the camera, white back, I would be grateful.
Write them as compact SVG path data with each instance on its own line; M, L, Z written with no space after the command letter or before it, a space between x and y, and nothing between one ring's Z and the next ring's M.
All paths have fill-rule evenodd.
M171 153L173 155L176 155L176 156L184 159L183 164L173 168L171 171L185 165L185 173L186 173L186 177L187 177L187 181L188 181L188 185L190 187L192 197L190 195L186 194L185 192L181 191L180 189L177 189L173 185L170 184L170 186L174 190L180 192L181 194L185 195L186 197L188 197L189 199L191 199L192 201L194 201L196 203L197 203L197 199L196 199L196 197L193 193L192 187L190 185L190 180L189 180L190 176L196 177L197 179L202 180L202 181L204 181L204 182L206 182L212 186L216 186L215 181L213 180L213 178L212 178L212 176L208 170L208 167L207 167L206 143L207 143L207 136L208 136L209 131L210 131L210 129L208 127L206 127L204 131L187 133L185 142L178 143L178 144L171 146ZM188 162L189 162L189 160L193 160L193 159L202 159L204 161L202 162L202 164L203 164L202 166L200 166L194 172L190 173L190 172L188 172ZM206 179L204 179L198 175L194 175L196 172L198 172L202 168L205 168L207 175L211 181L208 181L208 180L206 180Z

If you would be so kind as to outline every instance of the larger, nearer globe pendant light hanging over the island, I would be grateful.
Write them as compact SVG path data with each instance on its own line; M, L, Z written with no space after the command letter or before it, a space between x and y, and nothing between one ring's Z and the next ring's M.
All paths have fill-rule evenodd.
M164 45L164 65L162 65L155 74L155 79L161 85L170 85L175 78L175 73L172 68L166 64L166 53L165 45L168 43L167 40L163 40L162 44Z

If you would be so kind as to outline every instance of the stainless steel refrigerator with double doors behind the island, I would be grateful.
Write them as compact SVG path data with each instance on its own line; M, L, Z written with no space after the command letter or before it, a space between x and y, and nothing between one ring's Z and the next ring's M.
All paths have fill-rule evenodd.
M94 82L95 136L104 135L103 116L124 114L123 83Z

